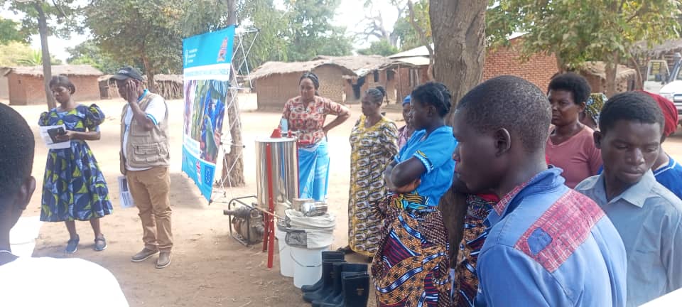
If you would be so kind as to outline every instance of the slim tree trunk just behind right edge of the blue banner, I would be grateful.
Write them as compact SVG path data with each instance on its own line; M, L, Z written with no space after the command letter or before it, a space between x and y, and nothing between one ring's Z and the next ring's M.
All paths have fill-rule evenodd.
M235 0L227 0L227 9L227 22L236 26L237 4ZM238 70L239 68L235 67L234 59L232 59L232 72L229 76L230 87L237 87ZM244 159L242 158L242 114L239 111L238 93L237 90L231 88L227 95L227 123L229 126L229 134L232 135L232 144L223 145L229 146L230 151L223 159L221 178L222 182L227 185L224 187L229 188L246 185L246 180L244 180ZM232 104L229 104L229 102L232 102Z

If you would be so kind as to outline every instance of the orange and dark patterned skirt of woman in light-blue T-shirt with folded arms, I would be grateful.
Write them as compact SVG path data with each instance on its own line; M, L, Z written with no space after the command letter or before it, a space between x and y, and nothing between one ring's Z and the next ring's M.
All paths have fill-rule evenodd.
M435 208L402 209L404 200L392 195L380 206L384 229L372 262L377 306L450 306L443 216Z

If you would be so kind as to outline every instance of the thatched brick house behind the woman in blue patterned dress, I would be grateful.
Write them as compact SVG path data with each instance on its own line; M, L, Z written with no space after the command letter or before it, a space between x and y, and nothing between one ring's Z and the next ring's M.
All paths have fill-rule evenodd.
M75 101L99 100L97 77L102 72L90 65L55 65L53 75L65 75L76 87ZM43 67L7 68L4 76L9 87L9 104L45 104Z

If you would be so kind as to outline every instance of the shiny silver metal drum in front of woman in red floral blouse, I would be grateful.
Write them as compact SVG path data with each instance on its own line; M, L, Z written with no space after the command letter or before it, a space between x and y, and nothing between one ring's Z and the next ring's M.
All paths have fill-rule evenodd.
M298 151L295 138L256 139L257 198L261 208L269 208L272 196L276 214L298 198Z

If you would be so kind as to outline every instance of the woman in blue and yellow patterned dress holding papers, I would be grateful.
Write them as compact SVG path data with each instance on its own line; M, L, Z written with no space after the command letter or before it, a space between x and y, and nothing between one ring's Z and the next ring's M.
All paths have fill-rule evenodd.
M99 218L112 213L109 190L99 171L90 147L85 141L99 140L99 124L104 113L92 104L76 104L71 95L76 87L64 76L50 80L50 90L59 106L40 115L40 126L65 125L66 133L56 138L70 141L69 149L50 149L45 166L43 201L40 220L65 222L70 239L66 252L75 253L80 237L76 233L76 220L90 221L94 232L94 250L107 248L107 241L99 229Z

